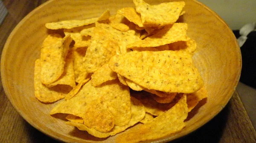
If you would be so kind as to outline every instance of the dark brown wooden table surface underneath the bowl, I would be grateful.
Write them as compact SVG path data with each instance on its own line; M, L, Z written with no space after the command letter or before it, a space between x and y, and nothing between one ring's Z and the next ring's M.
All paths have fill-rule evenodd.
M47 0L2 1L9 13L0 25L0 54L6 39L18 22ZM246 106L247 98L244 97L242 101L245 106L243 105L239 95L247 94L247 90L243 90L244 88L250 89L239 85L237 88L239 90L233 94L230 102L215 118L190 135L176 140L175 143L256 143L256 132L252 124L252 121L255 121L255 104L252 104L254 106L252 108ZM255 91L253 90L254 93ZM254 95L250 96L255 99ZM256 103L256 100L250 100L250 103ZM252 121L247 112L250 113L250 118L253 118ZM6 98L1 81L0 143L58 143L32 127L15 111Z

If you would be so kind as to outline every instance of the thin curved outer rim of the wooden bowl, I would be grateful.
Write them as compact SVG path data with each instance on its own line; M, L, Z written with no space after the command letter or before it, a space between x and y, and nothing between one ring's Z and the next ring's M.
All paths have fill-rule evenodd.
M5 42L5 45L3 46L3 50L2 50L2 54L1 54L1 62L0 62L0 71L1 71L1 81L2 81L2 85L3 85L3 89L6 93L6 96L8 98L8 100L11 102L12 106L15 108L15 110L19 113L20 116L22 116L22 118L24 118L31 126L35 127L37 130L39 130L40 132L44 133L45 135L49 136L49 137L52 137L53 139L55 140L58 140L58 141L64 141L64 142L69 142L70 140L68 140L67 138L65 137L61 137L61 136L58 136L58 135L61 135L61 134L58 134L58 135L51 135L49 132L46 132L45 129L41 129L39 126L37 126L34 122L32 121L29 121L28 120L28 117L23 114L23 112L19 111L17 109L17 106L14 104L14 100L11 96L11 94L9 93L9 90L6 88L6 80L3 80L5 79L5 68L4 68L4 62L6 60L6 53L7 53L7 47L9 46L10 42L11 42L11 39L12 37L15 35L17 29L20 28L21 25L23 25L23 23L28 20L36 11L40 10L41 8L43 8L45 5L48 5L49 3L53 3L54 1L57 1L57 0L49 0L43 4L41 4L40 6L36 7L35 9L33 9L32 11L29 12L29 14L27 14L25 17L23 17L22 20L20 20L20 22L15 26L15 28L12 30L12 32L9 34L6 42ZM182 0L180 0L182 1ZM199 2L198 0L190 0L190 1L193 1L195 3L197 3L198 5L201 5L202 8L205 8L207 11L209 11L211 14L215 15L216 18L218 18L218 20L220 22L222 22L225 27L227 27L230 31L230 33L233 34L232 30L230 29L230 27L227 25L227 23L213 10L211 10L208 6L206 6L205 4ZM233 37L235 38L235 35L233 34ZM239 48L239 45L238 43L236 42L236 48ZM198 130L199 128L201 128L202 126L204 126L206 123L208 123L210 120L212 120L212 118L214 118L216 115L218 115L219 112L221 112L221 110L227 105L227 103L230 101L230 98L232 98L235 90L236 90L236 87L239 83L239 79L240 79L240 76L241 76L241 66L242 66L242 62L241 62L241 50L240 50L240 54L239 54L239 73L237 73L237 76L236 76L236 79L235 79L235 86L233 88L232 91L230 91L230 95L228 97L228 100L223 104L221 105L220 107L221 108L218 108L218 110L216 110L211 116L209 116L209 118L207 118L206 120L204 120L204 122L201 122L201 124L198 124L196 125L193 129L190 129L190 130L187 130L186 132L184 132L183 134L179 134L175 137L175 140L181 138L181 137L185 137L186 135L189 135L190 133L192 132L195 132L196 130ZM231 94L232 93L232 94ZM171 137L167 137L167 138L162 138L162 139L158 139L158 141L152 141L152 143L159 143L159 142L167 142L167 141L171 141L173 140Z

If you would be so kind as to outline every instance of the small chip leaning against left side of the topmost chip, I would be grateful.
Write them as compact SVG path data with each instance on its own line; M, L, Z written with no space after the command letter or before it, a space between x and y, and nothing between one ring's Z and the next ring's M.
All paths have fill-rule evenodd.
M140 14L137 13L137 11L135 10L135 8L122 8L119 9L117 11L118 14L123 15L124 17L126 17L129 21L133 22L134 24L138 25L140 28L144 27L142 21L141 21L141 17Z

